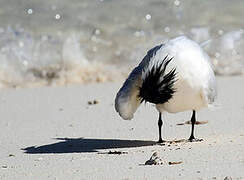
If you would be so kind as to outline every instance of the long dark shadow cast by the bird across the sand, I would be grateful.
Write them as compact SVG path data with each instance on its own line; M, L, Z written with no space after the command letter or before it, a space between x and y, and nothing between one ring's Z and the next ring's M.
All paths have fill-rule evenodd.
M155 145L154 141L120 139L55 138L60 142L31 146L22 150L28 154L86 153L114 148L133 148Z

